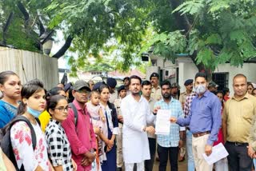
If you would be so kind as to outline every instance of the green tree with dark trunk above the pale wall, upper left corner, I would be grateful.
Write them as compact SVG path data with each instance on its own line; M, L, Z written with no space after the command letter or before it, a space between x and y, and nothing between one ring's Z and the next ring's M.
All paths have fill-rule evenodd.
M49 5L48 0L0 0L0 46L42 51L42 44L54 35L54 30L48 27L51 14L44 10ZM68 37L54 57L60 58L71 42Z

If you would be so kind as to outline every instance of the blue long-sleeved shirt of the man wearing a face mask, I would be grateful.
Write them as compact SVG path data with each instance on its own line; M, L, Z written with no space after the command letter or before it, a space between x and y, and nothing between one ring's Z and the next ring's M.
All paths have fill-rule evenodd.
M218 130L222 125L221 102L214 93L209 90L202 97L194 97L189 116L186 118L178 118L178 125L190 125L191 133L203 133L210 131L207 140L208 145L213 145L218 139Z

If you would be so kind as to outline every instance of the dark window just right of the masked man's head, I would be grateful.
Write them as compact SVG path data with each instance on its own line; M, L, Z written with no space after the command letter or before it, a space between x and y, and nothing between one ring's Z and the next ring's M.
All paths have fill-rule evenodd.
M218 84L218 90L229 87L229 73L214 73L212 80Z

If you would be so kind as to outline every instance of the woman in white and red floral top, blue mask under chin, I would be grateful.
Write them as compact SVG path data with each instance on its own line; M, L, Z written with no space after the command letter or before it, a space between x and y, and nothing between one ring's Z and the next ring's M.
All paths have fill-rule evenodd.
M17 162L18 170L51 170L47 155L47 144L40 127L38 117L46 109L46 93L42 82L34 79L22 87L22 102L18 106L18 115L29 122L17 121L10 128L10 142ZM33 143L33 132L36 145Z

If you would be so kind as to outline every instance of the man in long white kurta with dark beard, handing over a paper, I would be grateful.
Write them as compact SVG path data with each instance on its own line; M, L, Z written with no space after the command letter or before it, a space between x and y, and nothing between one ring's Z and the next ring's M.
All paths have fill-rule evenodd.
M150 105L145 97L141 97L142 80L138 76L130 77L130 94L122 100L123 116L122 151L126 171L144 170L144 161L150 159L150 148L147 133L154 133L153 126L146 126L154 122L154 115L150 113Z

